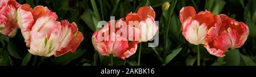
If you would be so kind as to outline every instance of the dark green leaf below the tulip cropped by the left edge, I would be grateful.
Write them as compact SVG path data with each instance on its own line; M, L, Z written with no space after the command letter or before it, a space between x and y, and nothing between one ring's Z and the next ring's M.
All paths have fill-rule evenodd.
M15 58L22 59L22 57L20 55L21 51L17 48L18 48L18 45L15 44L15 41L10 40L9 44L7 45L7 49L9 51L9 53Z

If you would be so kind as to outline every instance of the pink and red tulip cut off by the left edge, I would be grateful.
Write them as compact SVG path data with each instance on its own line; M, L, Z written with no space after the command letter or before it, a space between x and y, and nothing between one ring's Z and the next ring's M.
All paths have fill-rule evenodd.
M15 0L0 1L0 33L5 36L14 37L18 24L16 20L16 10L20 6Z

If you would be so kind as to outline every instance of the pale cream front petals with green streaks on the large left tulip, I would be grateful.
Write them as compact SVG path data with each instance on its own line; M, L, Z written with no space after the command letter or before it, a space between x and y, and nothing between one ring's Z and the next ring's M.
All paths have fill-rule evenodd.
M57 29L52 31L49 38L46 33L31 31L31 45L28 52L34 55L49 57L59 49L59 37L60 31Z

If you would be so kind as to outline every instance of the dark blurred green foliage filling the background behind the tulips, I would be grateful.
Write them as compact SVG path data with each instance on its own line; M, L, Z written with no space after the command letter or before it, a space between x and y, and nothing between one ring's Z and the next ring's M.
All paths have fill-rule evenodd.
M196 65L197 46L189 44L181 34L179 11L184 6L193 6L196 11L209 10L214 14L226 14L238 21L245 22L250 35L245 44L238 49L229 50L226 57L210 55L200 45L201 65L238 66L255 65L256 62L256 1L255 0L18 0L31 7L47 6L59 16L57 20L67 19L76 22L79 31L84 34L75 53L61 57L36 57L27 51L20 31L14 38L0 35L0 65L11 66L94 66L109 65L110 58L99 55L93 48L91 37L100 20L109 21L125 18L129 12L136 12L141 6L152 6L159 21L159 46L148 48L142 43L141 65L193 66ZM170 2L168 10L162 11L164 2ZM114 65L136 66L138 53L125 60L114 57Z

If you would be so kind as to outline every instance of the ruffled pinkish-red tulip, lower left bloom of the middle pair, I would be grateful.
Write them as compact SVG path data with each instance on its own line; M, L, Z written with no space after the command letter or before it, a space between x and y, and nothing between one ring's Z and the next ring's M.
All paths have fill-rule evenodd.
M110 22L116 23L114 20ZM125 24L124 21L121 23ZM135 41L128 41L127 37L122 37L125 36L125 34L117 33L120 28L114 28L115 31L111 31L111 26L113 27L115 25L108 23L99 31L93 33L92 44L97 52L101 55L113 54L114 57L122 59L133 55L137 50L138 43Z

